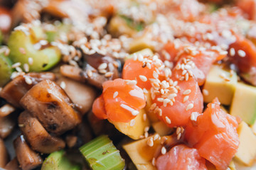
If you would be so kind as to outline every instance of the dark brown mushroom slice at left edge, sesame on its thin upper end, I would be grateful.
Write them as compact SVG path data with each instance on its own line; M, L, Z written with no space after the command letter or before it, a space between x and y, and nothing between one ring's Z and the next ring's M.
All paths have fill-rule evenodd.
M55 80L55 74L51 72L28 73L10 81L0 91L0 97L6 99L11 105L21 108L19 101L29 89L45 79Z

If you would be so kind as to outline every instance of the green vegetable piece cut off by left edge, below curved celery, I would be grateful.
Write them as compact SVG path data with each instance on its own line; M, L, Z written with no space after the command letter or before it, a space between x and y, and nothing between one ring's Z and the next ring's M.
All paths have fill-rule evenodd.
M4 86L10 77L13 69L11 69L11 60L9 57L4 56L4 53L0 54L0 86Z

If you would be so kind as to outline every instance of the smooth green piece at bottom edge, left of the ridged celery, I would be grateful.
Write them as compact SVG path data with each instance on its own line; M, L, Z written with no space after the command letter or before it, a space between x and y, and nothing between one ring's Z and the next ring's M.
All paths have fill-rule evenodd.
M41 170L80 170L81 167L73 164L65 157L65 151L60 150L51 153L43 162Z

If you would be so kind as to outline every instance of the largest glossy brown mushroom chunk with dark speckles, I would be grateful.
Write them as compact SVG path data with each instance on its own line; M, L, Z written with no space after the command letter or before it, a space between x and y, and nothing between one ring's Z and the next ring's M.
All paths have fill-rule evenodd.
M21 98L21 106L29 111L48 132L61 135L81 123L75 104L55 82L44 80Z

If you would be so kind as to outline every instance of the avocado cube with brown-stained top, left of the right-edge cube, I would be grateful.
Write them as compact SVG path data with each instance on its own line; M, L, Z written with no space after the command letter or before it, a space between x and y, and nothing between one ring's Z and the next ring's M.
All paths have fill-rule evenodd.
M203 86L203 101L210 103L215 97L218 97L220 103L230 105L237 83L238 75L235 72L231 76L228 70L222 69L218 65L213 65Z

